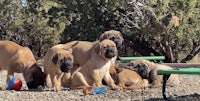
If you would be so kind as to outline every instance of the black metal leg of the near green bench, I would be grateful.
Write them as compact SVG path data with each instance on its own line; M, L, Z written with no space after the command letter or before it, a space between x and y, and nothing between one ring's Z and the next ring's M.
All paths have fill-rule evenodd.
M169 75L167 75L167 74L163 75L162 95L163 95L163 98L165 100L168 100L167 97L166 97L166 94L165 94L165 89L166 89L166 83L167 83L169 76L170 76L170 74Z

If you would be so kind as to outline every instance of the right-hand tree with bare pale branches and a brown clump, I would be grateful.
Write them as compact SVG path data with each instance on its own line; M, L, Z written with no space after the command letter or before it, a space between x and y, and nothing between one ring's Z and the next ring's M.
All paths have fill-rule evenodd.
M165 62L179 62L184 54L180 61L186 62L200 51L199 10L197 0L130 0L121 14L123 31L141 55L164 55Z

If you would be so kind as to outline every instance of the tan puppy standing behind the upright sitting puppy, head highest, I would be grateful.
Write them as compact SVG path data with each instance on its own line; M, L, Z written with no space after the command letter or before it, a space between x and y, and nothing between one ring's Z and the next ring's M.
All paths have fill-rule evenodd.
M122 34L116 30L105 31L100 36L99 41L101 42L104 39L112 40L116 44L118 49L122 47L124 41ZM94 45L99 43L99 41L95 42L79 41L79 43L75 47L73 47L74 68L72 72L74 72L78 67L80 67L80 65L85 64L87 60L89 60L89 58L91 57L90 52L92 48L94 47ZM115 63L116 58L117 55L112 60L113 64Z

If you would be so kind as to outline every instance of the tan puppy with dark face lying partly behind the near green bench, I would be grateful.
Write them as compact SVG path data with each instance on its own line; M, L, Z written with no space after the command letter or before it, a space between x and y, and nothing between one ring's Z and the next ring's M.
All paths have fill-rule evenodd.
M157 75L158 69L172 69L167 65L157 64L154 62L150 62L144 59L136 59L129 63L129 68L138 72L143 78L146 78L150 82L150 87L158 87L161 86L162 75ZM179 85L180 78L178 74L170 75L167 80L168 86L176 86Z

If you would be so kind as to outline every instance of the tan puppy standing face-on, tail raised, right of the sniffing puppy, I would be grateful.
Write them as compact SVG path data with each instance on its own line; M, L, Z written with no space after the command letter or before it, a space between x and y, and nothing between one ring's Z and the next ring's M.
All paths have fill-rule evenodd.
M44 56L44 72L47 74L47 88L51 88L52 82L55 91L60 91L62 86L69 86L70 72L74 62L71 48L77 43L58 44L47 51Z

